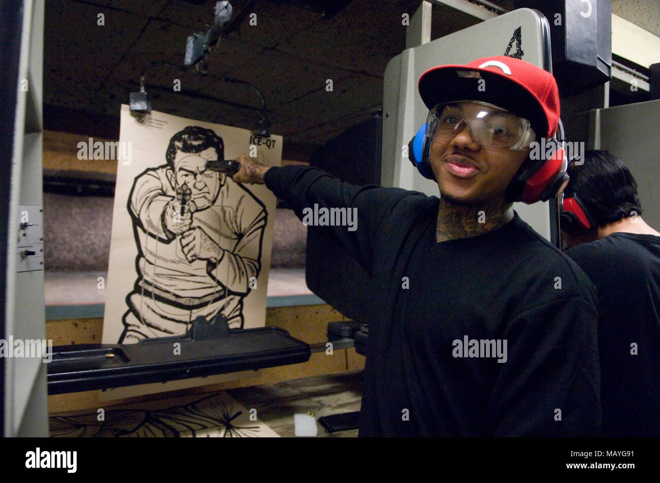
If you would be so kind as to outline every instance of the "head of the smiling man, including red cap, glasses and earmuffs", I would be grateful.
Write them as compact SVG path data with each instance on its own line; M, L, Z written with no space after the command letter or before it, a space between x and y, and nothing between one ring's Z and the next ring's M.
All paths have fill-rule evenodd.
M559 92L550 72L511 57L486 57L467 65L428 69L419 79L419 92L430 112L425 146L418 146L421 152L414 153L421 159L414 162L422 175L438 181L446 199L467 199L468 188L483 199L501 192L505 185L506 201L533 203L554 198L568 183L558 150L550 159L529 157L532 142L545 146L557 130ZM448 122L454 118L464 122ZM486 169L490 162L471 159L473 156L432 163L440 159L438 143L459 134L466 124L471 140L484 148L474 157L488 154L502 168L497 173ZM499 163L502 156L512 158Z

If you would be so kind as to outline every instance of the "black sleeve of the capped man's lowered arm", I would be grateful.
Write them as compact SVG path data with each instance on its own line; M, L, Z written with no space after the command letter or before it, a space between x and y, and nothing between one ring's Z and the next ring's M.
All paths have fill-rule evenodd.
M488 405L493 436L599 436L594 297L565 295L513 319Z

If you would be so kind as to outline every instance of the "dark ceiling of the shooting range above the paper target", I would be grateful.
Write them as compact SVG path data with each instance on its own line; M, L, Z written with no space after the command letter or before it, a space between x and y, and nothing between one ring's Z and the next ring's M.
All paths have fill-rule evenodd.
M490 0L512 9L513 0ZM197 2L199 3L199 2ZM247 0L232 1L234 14ZM418 0L348 3L257 0L240 29L213 47L209 74L183 69L187 36L213 23L215 1L48 0L44 36L44 128L117 138L119 105L145 73L152 109L253 128L263 93L284 159L314 148L378 111L383 72L405 48L403 13ZM479 20L434 5L432 38ZM98 15L104 14L104 25ZM227 78L243 82L229 82ZM173 89L181 81L181 92ZM326 90L326 81L333 90Z

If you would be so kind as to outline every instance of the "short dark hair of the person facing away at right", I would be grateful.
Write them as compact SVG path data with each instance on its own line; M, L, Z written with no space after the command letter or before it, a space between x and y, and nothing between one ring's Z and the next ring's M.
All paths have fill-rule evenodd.
M599 227L632 216L632 212L642 214L637 183L618 157L607 151L585 151L583 164L571 162L567 172L571 179L564 196L578 195Z

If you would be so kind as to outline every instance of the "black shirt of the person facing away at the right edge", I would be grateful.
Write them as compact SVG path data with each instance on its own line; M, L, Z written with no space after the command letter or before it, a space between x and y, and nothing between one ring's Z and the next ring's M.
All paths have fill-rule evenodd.
M567 254L600 302L601 436L660 436L660 237L612 233Z

